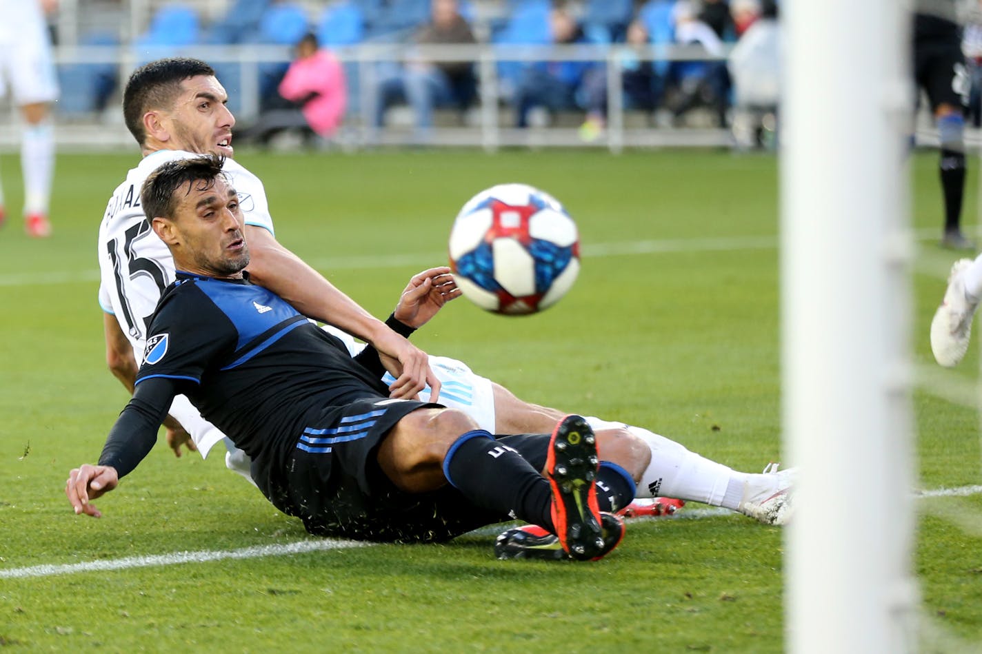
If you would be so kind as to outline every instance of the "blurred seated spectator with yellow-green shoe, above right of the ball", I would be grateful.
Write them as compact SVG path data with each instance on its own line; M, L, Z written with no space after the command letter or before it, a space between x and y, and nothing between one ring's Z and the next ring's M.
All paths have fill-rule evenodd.
M625 109L655 109L656 82L654 68L650 61L641 59L649 43L648 30L640 20L627 26L627 44L620 60L622 87L624 88ZM607 125L607 67L590 69L583 81L586 94L586 122L579 128L583 140L596 140Z

